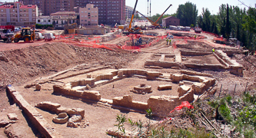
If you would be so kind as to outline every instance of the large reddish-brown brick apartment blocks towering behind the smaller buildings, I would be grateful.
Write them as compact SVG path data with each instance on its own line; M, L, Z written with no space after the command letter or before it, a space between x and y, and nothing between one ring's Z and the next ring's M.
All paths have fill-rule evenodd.
M77 11L93 4L98 7L98 24L115 25L125 22L125 0L19 0L25 5L38 5L43 15L57 11Z

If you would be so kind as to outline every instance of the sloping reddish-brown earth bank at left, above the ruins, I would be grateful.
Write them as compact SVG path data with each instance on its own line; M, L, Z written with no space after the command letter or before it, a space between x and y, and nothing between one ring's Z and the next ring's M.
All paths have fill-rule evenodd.
M32 77L58 72L77 64L122 66L135 59L128 51L75 47L52 43L0 52L0 86L22 84Z

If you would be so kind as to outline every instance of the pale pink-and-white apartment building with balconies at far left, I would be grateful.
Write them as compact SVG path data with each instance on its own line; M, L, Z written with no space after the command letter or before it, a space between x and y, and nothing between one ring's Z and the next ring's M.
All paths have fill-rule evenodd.
M13 2L13 5L0 6L1 25L35 25L37 16L37 5L23 5L22 2Z

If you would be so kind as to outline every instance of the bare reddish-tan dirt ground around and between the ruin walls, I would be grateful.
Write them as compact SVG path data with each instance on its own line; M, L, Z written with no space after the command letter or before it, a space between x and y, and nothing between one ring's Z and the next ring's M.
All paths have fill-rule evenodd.
M166 35L166 30L147 31L155 32L158 35ZM180 32L183 33L183 32ZM187 32L185 32L187 33ZM205 34L202 34L205 35ZM208 35L205 35L208 36ZM211 51L211 38L205 38L200 41L186 41L183 39L176 39L178 44L188 44L185 48L173 47L173 45L166 45L165 39L158 41L158 43L151 45L148 48L142 48L141 52L125 51L122 49L115 49L113 51L102 48L85 48L77 47L72 44L59 43L58 41L37 41L34 43L20 43L20 44L5 44L0 42L0 120L6 119L6 114L16 113L18 115L18 123L12 124L12 132L20 137L40 137L38 131L34 129L26 115L19 110L15 104L12 103L12 99L6 95L5 86L12 84L17 87L17 90L21 92L25 100L29 104L35 106L42 101L51 100L54 103L61 104L63 107L79 107L85 109L85 119L89 121L90 125L85 128L70 128L66 124L55 124L52 122L52 117L55 114L48 113L44 110L38 110L42 113L45 120L48 121L55 129L62 134L63 137L110 137L105 134L106 129L115 128L115 116L117 114L125 114L126 117L132 120L147 120L145 114L127 112L123 110L112 109L111 107L91 104L81 100L71 99L69 97L62 97L58 94L54 94L52 90L52 83L42 85L41 91L35 91L35 87L25 89L24 84L34 82L36 78L48 77L49 75L56 74L59 71L64 71L71 68L71 72L84 71L88 68L103 67L110 65L112 69L119 68L138 68L148 71L160 71L165 74L178 73L179 70L174 69L151 69L145 68L145 61L159 60L161 57L154 57L153 54L179 54L181 49L194 49ZM124 44L125 41L129 41L129 38L125 36L116 37L111 41L105 41L105 44ZM226 47L226 46L225 46ZM228 47L226 47L228 48ZM219 64L219 62L213 58L212 55L207 56L194 56L187 57L188 63L197 64ZM254 63L256 58L254 56L245 56L244 54L234 54L232 59L237 60L244 66L244 75L237 76L230 74L229 71L207 71L207 70L194 70L202 73L212 74L216 79L217 93L219 94L221 85L221 94L231 94L232 96L241 94L245 87L248 90L253 90L256 87L256 71ZM167 59L169 61L169 59ZM171 59L170 59L171 61ZM251 64L251 63L252 64ZM72 68L76 65L84 64L78 68ZM191 69L188 69L191 70ZM65 75L68 75L65 74ZM60 75L56 78L61 78L64 75ZM80 76L81 77L81 76ZM84 76L85 77L85 76ZM68 79L61 81L68 82ZM115 88L112 88L113 84L105 84L101 87L95 87L93 90L99 90L101 97L111 99L112 97L123 96L124 94L131 94L129 91L131 87L139 84L148 84L152 86L152 94L132 94L133 100L146 102L151 95L170 95L177 94L178 84L172 84L172 90L158 91L157 86L160 84L168 84L164 81L146 81L139 78L125 78L121 81L115 81L113 84ZM235 91L234 91L234 87ZM7 120L7 119L6 119ZM155 119L155 123L161 120ZM189 125L188 125L189 126ZM22 130L21 130L22 128ZM6 137L3 133L5 129L0 128L0 137Z

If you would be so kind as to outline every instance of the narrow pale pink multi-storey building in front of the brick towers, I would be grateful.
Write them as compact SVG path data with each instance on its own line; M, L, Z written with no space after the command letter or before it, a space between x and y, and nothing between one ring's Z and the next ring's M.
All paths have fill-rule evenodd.
M98 25L98 7L87 4L85 8L79 8L80 25Z

